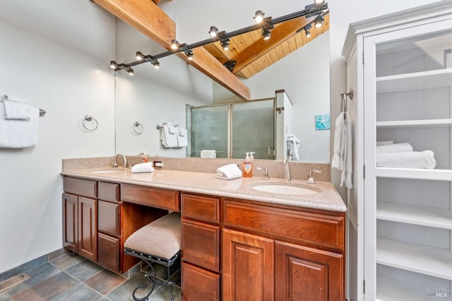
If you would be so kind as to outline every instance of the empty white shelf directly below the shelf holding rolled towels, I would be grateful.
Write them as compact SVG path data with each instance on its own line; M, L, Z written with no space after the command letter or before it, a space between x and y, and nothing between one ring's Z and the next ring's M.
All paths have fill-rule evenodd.
M452 230L452 211L447 209L377 201L376 218Z

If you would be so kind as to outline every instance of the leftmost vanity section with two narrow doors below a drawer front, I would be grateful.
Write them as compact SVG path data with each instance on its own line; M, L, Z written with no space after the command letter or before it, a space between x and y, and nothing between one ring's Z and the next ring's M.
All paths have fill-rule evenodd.
M97 261L97 182L65 177L64 191L64 247Z

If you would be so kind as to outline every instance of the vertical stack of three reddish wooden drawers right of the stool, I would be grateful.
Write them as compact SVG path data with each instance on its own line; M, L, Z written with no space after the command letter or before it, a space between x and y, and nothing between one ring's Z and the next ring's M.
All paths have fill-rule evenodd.
M182 193L181 213L183 300L220 300L220 199Z

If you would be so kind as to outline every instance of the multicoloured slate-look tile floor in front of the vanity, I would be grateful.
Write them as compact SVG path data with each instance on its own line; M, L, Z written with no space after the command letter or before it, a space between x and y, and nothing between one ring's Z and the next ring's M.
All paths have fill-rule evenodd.
M175 268L174 278L180 278L179 267ZM148 283L143 271L128 279L71 252L54 259L43 259L29 267L22 266L22 269L19 273L27 273L30 279L1 292L0 301L133 301L133 290L141 283ZM163 266L156 264L155 269L159 277L166 274ZM15 275L3 276L0 282ZM178 284L173 287L174 300L182 300ZM137 296L143 297L138 293ZM149 301L162 300L169 300L169 288L156 285Z

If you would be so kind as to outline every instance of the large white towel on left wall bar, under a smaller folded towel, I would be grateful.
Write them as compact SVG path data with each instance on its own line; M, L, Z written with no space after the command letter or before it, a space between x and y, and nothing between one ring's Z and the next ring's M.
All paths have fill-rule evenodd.
M4 118L4 106L0 105L0 148L34 148L40 110L30 107L30 120Z

